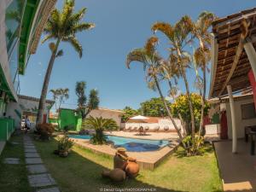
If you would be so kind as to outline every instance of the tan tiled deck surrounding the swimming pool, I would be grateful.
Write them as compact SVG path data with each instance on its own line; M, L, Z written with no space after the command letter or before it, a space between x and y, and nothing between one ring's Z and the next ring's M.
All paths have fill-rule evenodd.
M120 131L114 131L112 132L111 135L114 136L121 136L114 134L115 132L120 132ZM119 133L120 134L120 133ZM135 134L135 133L133 133ZM165 137L160 137L161 134L162 136L165 135ZM110 134L109 134L110 135ZM173 134L172 134L173 135ZM127 136L123 134L121 137L132 137L132 136ZM152 133L151 137L146 137L146 136L135 136L133 138L143 138L143 139L172 139L172 143L170 143L168 146L164 148L160 148L159 150L156 151L150 151L150 152L127 152L127 154L133 158L137 159L138 164L140 165L141 168L143 169L149 169L149 170L154 170L156 166L160 164L162 160L165 159L165 157L168 154L172 154L173 150L177 148L178 142L177 138L172 137L171 135L166 137L166 134L163 133ZM93 145L89 143L89 140L84 140L84 139L72 139L77 145L79 145L82 148L89 148L90 150L94 151L95 153L98 154L108 154L113 156L116 152L115 148L112 148L110 145Z

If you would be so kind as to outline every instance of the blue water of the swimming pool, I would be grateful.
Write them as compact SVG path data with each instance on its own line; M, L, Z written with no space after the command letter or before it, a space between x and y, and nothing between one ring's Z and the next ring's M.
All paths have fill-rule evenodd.
M91 136L69 135L69 137L78 139L90 139ZM109 141L113 142L115 148L122 147L131 152L155 151L165 147L169 143L167 140L149 140L117 136L107 137Z

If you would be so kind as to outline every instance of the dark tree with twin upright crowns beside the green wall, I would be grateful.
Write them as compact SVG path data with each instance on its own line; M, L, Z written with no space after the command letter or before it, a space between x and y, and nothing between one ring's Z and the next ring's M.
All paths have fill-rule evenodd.
M78 110L82 115L82 119L90 113L91 110L99 107L100 99L98 97L97 90L90 90L89 100L85 95L86 83L84 81L79 81L76 84L76 95L78 98Z

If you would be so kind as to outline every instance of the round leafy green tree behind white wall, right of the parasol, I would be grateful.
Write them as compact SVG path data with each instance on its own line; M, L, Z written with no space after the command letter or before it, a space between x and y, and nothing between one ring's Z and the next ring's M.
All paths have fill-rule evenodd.
M166 101L166 104L170 106L170 102ZM146 102L141 103L141 111L145 116L152 116L152 117L166 117L167 112L165 105L162 99L159 98L151 98Z

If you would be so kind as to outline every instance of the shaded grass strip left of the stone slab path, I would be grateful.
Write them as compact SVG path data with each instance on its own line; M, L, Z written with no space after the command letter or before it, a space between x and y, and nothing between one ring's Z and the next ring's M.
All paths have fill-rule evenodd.
M20 143L13 145L11 142ZM4 158L20 158L19 165L3 164ZM1 192L32 192L27 180L23 140L13 136L6 143L0 156L0 191Z

